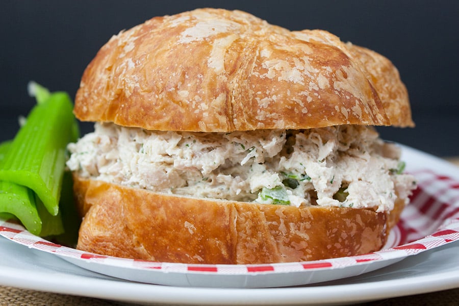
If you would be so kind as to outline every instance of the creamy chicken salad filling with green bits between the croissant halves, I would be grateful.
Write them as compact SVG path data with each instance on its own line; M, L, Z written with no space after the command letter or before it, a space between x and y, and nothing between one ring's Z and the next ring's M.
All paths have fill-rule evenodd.
M397 173L398 147L359 125L191 133L96 123L68 149L83 177L194 197L382 212L416 185Z

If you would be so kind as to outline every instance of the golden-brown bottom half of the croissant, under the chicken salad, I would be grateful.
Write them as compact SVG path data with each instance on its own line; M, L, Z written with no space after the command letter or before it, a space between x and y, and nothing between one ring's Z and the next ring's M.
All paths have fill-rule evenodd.
M158 194L83 179L78 248L116 257L201 264L310 261L379 250L386 213L296 208Z

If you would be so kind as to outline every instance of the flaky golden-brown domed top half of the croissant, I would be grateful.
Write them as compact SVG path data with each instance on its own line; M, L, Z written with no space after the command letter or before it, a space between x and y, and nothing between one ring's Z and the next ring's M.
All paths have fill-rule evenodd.
M410 126L404 85L385 74L394 69L325 31L198 9L112 37L86 68L74 113L162 131Z

